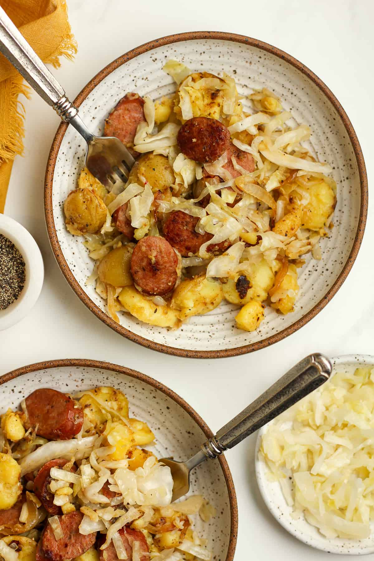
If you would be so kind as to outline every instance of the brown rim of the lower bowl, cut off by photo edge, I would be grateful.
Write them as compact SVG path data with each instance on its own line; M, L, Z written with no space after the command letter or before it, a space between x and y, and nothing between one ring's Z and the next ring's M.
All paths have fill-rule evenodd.
M110 370L116 374L124 374L126 376L130 376L131 378L135 378L136 380L140 380L143 383L150 385L151 387L159 390L165 396L172 399L176 402L188 415L190 415L191 419L196 422L196 425L202 430L205 434L206 438L211 438L213 436L213 432L210 430L209 426L207 426L206 422L201 419L200 415L193 409L181 396L177 393L173 392L172 389L168 388L164 384L161 384L158 380L147 376L146 374L142 374L137 370L132 370L127 368L126 366L119 366L118 364L113 364L112 362L104 362L101 360L91 360L87 358L61 358L57 360L47 360L44 362L35 362L34 364L29 364L27 366L22 366L15 370L11 370L7 374L3 374L0 376L0 385L5 384L10 380L15 380L19 378L19 376L23 376L24 374L30 374L36 372L38 370L47 370L49 368L61 368L61 367L82 367L82 368L97 368L101 370ZM227 492L229 496L229 505L230 505L230 536L229 536L229 544L227 555L225 561L233 561L235 548L237 544L237 537L238 537L238 504L236 498L236 491L234 487L233 477L230 472L230 468L227 463L227 459L224 457L223 454L218 456L217 461L220 463L221 470L223 472L223 476L225 479Z

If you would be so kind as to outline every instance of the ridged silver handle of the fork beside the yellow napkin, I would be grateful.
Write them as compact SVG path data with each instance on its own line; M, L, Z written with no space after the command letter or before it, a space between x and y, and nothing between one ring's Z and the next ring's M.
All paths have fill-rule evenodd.
M31 88L56 110L63 121L70 121L78 109L65 95L62 86L27 43L24 36L0 7L0 52L29 82Z

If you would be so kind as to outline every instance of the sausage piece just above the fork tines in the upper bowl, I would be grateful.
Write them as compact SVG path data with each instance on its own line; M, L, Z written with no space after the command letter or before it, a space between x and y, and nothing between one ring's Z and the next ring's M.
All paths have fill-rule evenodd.
M116 136L125 146L133 146L136 128L145 121L143 106L138 94L126 94L105 120L104 136Z

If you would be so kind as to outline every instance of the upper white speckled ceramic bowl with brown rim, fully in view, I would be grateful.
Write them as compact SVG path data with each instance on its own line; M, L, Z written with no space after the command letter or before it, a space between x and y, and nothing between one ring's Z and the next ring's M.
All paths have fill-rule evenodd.
M239 94L252 88L275 91L297 122L311 126L310 149L334 167L338 205L334 229L322 241L322 260L307 262L299 272L301 290L293 313L266 308L260 329L248 333L235 327L237 308L228 303L204 316L195 316L179 330L146 325L121 313L121 324L110 319L105 302L87 287L93 269L79 237L64 226L63 202L76 186L85 161L85 142L75 129L61 124L50 151L45 177L45 216L50 242L73 290L98 318L118 333L146 347L174 355L215 358L239 355L268 346L302 327L338 291L361 244L367 213L367 180L361 148L338 100L308 68L287 53L242 35L198 31L173 35L133 49L104 68L81 91L75 104L87 126L103 134L104 119L127 91L158 99L174 91L161 69L177 58L193 71L223 71L234 76Z

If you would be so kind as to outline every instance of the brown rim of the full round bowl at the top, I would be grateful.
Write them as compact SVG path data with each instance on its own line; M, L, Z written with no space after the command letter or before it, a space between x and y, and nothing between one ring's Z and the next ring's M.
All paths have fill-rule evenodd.
M350 122L347 113L345 113L343 107L339 103L338 99L336 99L333 92L327 88L326 84L322 82L318 76L315 75L309 68L304 66L301 62L299 62L296 58L290 56L290 54L285 53L283 50L278 49L277 47L273 47L273 45L269 45L268 43L264 43L258 39L253 39L251 37L247 37L245 35L237 35L235 33L225 33L223 31L191 31L188 33L179 33L175 35L167 35L165 37L161 37L160 39L155 39L150 41L149 43L145 43L144 45L140 45L140 47L136 47L135 49L129 50L127 53L123 54L121 57L116 58L113 62L111 62L108 66L105 66L103 70L101 70L96 76L82 89L80 94L74 100L74 104L76 107L79 107L80 104L86 99L87 95L91 93L91 91L103 80L107 77L113 70L116 70L119 66L122 66L127 61L130 61L132 58L137 57L140 54L144 54L147 51L157 48L163 47L164 45L169 45L170 43L178 43L181 41L188 41L188 40L196 40L196 39L220 39L225 41L232 41L234 43L243 43L251 45L252 47L256 47L258 49L265 50L275 56L283 59L284 61L288 62L290 65L297 68L297 70L301 71L304 75L308 77L308 79L312 80L316 86L322 91L322 93L329 99L333 107L338 112L341 121L344 124L345 129L347 130L347 134L349 136L350 142L352 142L353 150L355 159L358 165L358 173L360 178L361 184L361 208L360 214L358 219L358 226L357 231L355 234L352 250L348 256L346 263L344 264L343 269L341 270L339 277L335 280L333 286L329 289L329 291L325 294L325 296L316 304L310 311L307 312L302 318L295 321L289 327L282 329L280 332L275 333L274 335L270 335L270 337L266 337L265 339L261 339L261 341L256 341L254 343L250 343L247 345L243 345L241 347L229 348L229 349L220 349L215 351L197 351L197 350L190 350L190 349L183 349L177 347L171 347L169 345L165 345L162 343L156 343L154 341L150 341L141 335L136 333L132 333L129 329L126 329L122 325L116 323L112 318L109 318L104 311L100 310L99 306L97 306L89 296L85 293L85 291L81 288L80 284L75 279L74 275L72 274L61 250L61 247L58 242L56 226L54 224L53 219L53 205L52 205L52 183L53 183L53 174L54 174L54 167L56 165L58 150L61 146L61 142L63 136L67 130L68 125L66 123L61 123L58 127L56 132L56 136L54 137L52 147L50 149L47 169L45 171L45 186L44 186L44 211L45 211L45 221L47 223L47 231L49 236L50 245L52 247L52 251L54 256L56 257L57 263L59 268L61 269L64 277L66 278L67 282L72 287L73 291L76 295L80 298L80 300L93 312L101 321L107 324L110 328L114 331L123 335L123 337L127 337L134 341L135 343L141 344L144 347L153 349L154 351L159 351L166 353L168 355L176 355L181 357L188 357L188 358L223 358L223 357L230 357L230 356L238 356L244 355L248 352L257 351L264 347L268 347L273 343L277 343L288 337L288 335L294 333L303 325L306 325L308 321L314 318L318 312L320 312L326 304L335 296L336 292L338 292L339 288L343 284L344 280L347 278L350 269L352 269L353 263L357 257L359 247L361 246L366 218L367 218L367 208L368 208L368 183L367 183L367 174L366 174L366 167L363 159L363 154L361 150L361 146L359 144L357 135L355 134L354 128L352 123Z

